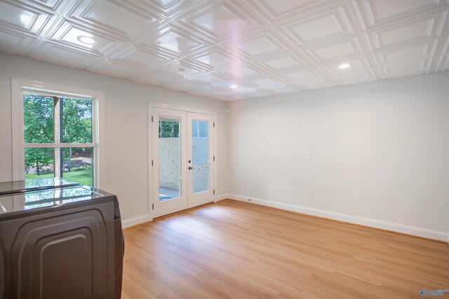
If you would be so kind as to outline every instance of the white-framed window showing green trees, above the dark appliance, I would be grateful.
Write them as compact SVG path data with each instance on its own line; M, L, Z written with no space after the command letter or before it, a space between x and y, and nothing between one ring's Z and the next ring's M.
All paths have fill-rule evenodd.
M98 187L99 97L42 85L13 81L14 179L62 177Z

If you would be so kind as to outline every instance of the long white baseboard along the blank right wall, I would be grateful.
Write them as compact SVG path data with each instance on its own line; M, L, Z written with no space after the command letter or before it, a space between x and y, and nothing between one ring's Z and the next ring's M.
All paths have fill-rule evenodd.
M270 200L260 200L254 197L248 197L236 194L227 194L227 198L232 200L239 200L242 202L251 202L254 204L262 204L267 207L276 207L278 209L285 209L288 211L296 211L302 214L309 214L323 218L330 218L339 221L356 223L366 225L373 228L381 228L382 230L391 230L394 232L401 232L403 234L415 235L418 237L425 237L428 239L436 239L438 241L449 242L449 232L440 232L438 230L429 230L427 228L417 228L411 225L403 225L400 223L393 223L388 221L375 220L366 217L352 216L347 214L336 213L333 211L325 211L321 209L313 209L309 207L301 207L296 204L284 204L281 202L273 202Z

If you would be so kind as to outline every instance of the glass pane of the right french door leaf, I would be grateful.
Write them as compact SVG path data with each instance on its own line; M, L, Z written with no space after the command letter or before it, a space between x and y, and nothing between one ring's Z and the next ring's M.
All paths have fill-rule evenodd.
M209 122L192 120L192 193L209 190Z

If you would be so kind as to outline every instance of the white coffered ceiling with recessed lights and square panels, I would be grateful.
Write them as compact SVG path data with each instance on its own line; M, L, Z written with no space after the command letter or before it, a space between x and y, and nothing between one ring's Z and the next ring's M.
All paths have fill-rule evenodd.
M1 0L0 50L232 101L445 71L448 10L449 0Z

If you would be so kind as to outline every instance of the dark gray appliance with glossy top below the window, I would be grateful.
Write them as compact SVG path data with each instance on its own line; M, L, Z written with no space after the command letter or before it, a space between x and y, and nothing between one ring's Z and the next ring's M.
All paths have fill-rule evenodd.
M120 298L123 234L115 195L51 183L11 190L19 191L0 195L1 299Z

